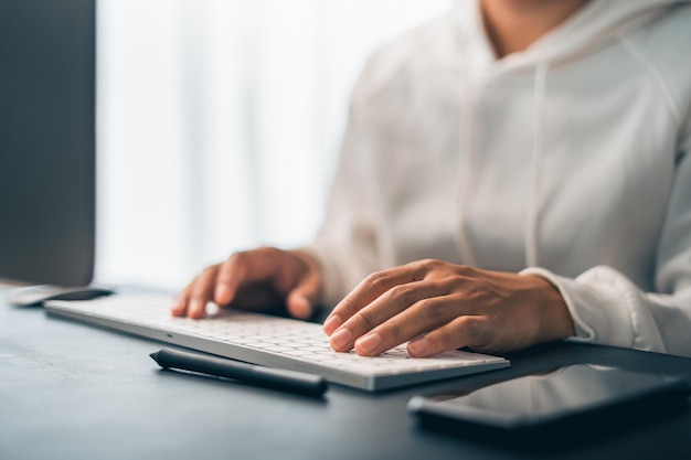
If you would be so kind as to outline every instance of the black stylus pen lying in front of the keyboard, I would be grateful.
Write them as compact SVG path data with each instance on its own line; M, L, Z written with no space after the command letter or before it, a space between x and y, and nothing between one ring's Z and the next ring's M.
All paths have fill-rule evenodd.
M149 356L163 368L179 368L234 378L252 385L308 396L321 396L327 391L327 381L313 374L264 367L240 361L206 354L183 352L163 347Z

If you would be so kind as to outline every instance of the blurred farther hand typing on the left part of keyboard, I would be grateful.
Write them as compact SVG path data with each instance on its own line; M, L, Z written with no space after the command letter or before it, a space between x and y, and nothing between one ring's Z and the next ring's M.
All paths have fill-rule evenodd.
M307 253L262 247L204 269L177 296L171 313L202 318L209 302L249 310L281 302L291 317L307 319L321 290L321 270Z

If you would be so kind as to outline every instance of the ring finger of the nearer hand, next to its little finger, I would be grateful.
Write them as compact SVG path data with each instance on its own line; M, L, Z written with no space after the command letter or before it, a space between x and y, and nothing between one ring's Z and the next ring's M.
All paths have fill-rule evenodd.
M354 342L355 352L374 356L456 318L457 301L450 296L425 297L411 308L382 322Z

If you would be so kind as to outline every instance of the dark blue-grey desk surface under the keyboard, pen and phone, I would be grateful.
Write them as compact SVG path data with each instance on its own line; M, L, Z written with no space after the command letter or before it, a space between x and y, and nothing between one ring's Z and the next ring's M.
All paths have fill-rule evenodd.
M529 458L422 430L406 403L415 394L588 360L691 381L688 359L559 344L510 356L510 370L376 395L331 386L323 400L315 400L160 371L148 356L160 346L0 300L0 458ZM691 411L552 457L691 459Z

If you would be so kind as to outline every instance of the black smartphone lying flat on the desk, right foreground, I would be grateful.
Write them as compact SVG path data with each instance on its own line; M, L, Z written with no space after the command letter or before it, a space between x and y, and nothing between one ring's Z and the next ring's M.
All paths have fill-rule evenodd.
M460 394L415 396L424 428L528 450L560 450L680 413L681 378L577 364Z

